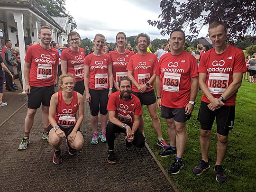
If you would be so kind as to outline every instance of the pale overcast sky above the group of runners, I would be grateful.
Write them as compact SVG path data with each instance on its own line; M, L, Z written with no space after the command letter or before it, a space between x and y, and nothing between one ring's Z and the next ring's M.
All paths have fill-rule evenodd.
M148 19L158 20L159 7L160 0L66 0L66 9L74 17L80 36L93 40L101 33L108 42L115 42L119 31L125 32L127 37L145 32L151 40L168 39L147 22ZM206 36L207 27L203 29L199 37Z

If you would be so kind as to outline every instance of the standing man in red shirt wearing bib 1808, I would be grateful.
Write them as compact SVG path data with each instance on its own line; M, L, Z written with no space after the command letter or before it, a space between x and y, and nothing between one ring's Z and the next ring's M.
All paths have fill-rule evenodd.
M18 146L24 150L30 143L29 133L34 123L37 109L42 103L42 123L44 127L42 138L49 141L47 127L51 96L55 93L54 82L58 72L59 53L50 46L52 30L48 26L39 29L40 44L29 46L25 57L24 77L27 93L27 116L25 118L25 134Z

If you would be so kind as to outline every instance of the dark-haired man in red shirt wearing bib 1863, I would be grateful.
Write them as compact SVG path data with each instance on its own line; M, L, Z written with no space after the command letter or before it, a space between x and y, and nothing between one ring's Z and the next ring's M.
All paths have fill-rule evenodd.
M183 153L187 144L186 121L190 119L198 88L197 62L183 51L185 33L174 29L170 35L171 52L162 55L155 70L157 105L166 119L170 147L160 156L176 155L168 173L178 174L183 167Z

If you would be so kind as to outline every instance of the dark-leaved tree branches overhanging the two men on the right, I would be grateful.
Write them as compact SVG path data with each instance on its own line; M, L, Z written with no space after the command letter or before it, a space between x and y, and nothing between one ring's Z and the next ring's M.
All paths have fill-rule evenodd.
M201 28L221 20L227 23L228 39L240 39L256 33L255 0L161 0L162 20L148 20L152 26L162 29L161 34L170 34L174 28L189 28L192 40Z

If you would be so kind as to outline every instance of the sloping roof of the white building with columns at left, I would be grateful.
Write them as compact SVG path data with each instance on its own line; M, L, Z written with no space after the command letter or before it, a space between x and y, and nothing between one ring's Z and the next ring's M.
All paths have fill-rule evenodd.
M37 3L36 0L0 0L0 6L28 8L44 18L50 24L65 32L65 30Z

